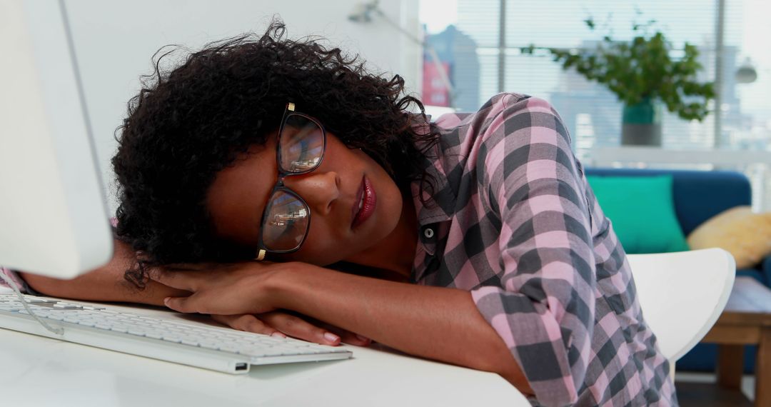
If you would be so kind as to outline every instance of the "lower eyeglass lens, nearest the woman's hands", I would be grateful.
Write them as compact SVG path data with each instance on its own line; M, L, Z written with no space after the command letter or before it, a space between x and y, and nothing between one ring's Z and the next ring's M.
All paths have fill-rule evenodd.
M310 224L308 207L293 193L278 190L265 210L262 243L271 251L300 247Z

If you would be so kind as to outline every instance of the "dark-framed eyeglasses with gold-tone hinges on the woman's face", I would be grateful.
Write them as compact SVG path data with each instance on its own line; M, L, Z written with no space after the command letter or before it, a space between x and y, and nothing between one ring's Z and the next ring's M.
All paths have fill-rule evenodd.
M295 112L295 103L287 103L276 144L278 181L262 213L257 261L262 261L268 252L298 251L308 237L311 209L298 193L284 186L284 178L318 168L324 159L326 143L322 123Z

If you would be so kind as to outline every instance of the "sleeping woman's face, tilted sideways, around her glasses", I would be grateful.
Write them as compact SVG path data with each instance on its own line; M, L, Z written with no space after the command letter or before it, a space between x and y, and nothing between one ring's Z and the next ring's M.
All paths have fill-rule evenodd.
M254 247L255 256L262 213L278 179L277 133L268 134L264 146L253 146L231 167L217 173L207 193L207 209L217 235ZM281 257L288 261L327 265L349 260L379 244L396 228L402 214L402 195L388 173L332 133L327 133L322 164L311 173L285 177L284 185L298 193L311 210L311 226L302 247ZM375 196L367 200L374 208L359 213L360 197L367 192ZM365 212L369 217L362 221Z

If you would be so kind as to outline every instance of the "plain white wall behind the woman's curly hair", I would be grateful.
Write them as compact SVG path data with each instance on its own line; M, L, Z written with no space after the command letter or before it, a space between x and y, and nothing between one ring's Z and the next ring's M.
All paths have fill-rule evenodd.
M113 175L109 159L113 133L126 115L126 102L150 72L150 57L163 45L197 49L206 42L243 32L264 32L273 15L287 24L288 36L322 35L330 45L359 53L375 72L399 73L410 92L419 89L419 46L379 18L348 21L357 0L66 0L86 105L96 137L99 166L109 183L113 213ZM382 0L380 8L410 32L419 32L413 0Z

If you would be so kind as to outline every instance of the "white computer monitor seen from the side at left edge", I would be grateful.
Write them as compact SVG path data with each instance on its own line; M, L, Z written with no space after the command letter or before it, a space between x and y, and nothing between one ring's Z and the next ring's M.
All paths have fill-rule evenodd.
M75 278L113 237L63 0L0 1L0 265Z

